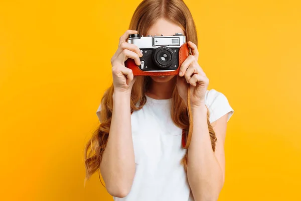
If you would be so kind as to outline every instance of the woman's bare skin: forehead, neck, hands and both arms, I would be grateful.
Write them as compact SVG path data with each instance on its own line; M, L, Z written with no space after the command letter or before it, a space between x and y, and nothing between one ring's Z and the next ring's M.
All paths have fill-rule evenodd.
M112 56L114 84L114 108L107 147L100 164L101 174L108 192L117 197L126 196L131 188L135 172L134 150L131 137L130 91L135 81L131 69L124 66L127 58L140 65L139 48L126 42L129 34L137 31L127 30L119 40L116 53ZM184 31L172 22L158 20L147 35L174 35ZM196 45L188 42L192 49L181 65L179 75L166 77L151 76L152 83L148 96L168 99L176 83L180 96L186 102L188 85L191 85L191 108L194 121L193 135L188 148L188 181L196 201L217 200L225 180L224 141L228 114L212 123L216 133L216 151L213 152L207 125L205 93L209 79L198 64L199 52Z

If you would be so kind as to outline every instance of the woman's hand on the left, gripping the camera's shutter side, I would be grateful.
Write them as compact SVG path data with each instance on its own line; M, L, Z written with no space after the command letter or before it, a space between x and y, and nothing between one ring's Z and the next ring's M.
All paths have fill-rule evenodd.
M127 58L134 59L136 65L140 65L142 53L134 45L127 43L129 34L137 34L136 30L127 30L119 39L118 49L111 58L114 91L130 92L135 82L133 72L130 68L124 66Z

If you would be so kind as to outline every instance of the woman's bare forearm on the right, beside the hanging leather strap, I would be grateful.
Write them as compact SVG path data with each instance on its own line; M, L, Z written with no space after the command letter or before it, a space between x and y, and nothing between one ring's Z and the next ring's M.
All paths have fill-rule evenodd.
M211 146L207 108L192 109L193 134L188 148L187 176L196 201L217 200L222 188L222 169Z

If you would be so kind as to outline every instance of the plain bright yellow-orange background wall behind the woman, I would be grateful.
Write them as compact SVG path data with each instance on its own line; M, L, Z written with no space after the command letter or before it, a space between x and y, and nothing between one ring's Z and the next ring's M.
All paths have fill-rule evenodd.
M111 200L83 147L140 1L0 2L1 200ZM299 1L185 1L228 124L219 200L301 200Z

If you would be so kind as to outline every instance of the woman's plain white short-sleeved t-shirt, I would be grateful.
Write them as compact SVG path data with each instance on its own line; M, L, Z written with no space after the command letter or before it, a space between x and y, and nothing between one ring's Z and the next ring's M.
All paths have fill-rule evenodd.
M234 113L226 96L215 89L206 91L205 105L210 112L210 123L227 113L229 121ZM101 106L97 112L100 110ZM136 171L128 195L113 197L115 201L194 200L180 164L187 151L181 144L182 129L173 123L170 111L171 98L146 96L143 108L131 115Z

